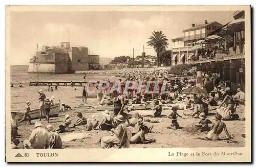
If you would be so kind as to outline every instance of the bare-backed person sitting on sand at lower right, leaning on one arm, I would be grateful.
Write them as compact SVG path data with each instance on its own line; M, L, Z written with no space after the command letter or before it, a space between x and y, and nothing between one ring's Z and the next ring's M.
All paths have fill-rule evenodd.
M210 131L207 134L207 137L205 137L205 138L197 137L197 138L201 139L201 140L219 140L220 139L219 136L224 129L228 139L230 140L231 137L227 131L227 126L225 123L223 123L221 121L221 118L222 118L222 116L217 113L215 115L215 119L214 119L216 122L212 122L212 126L211 126Z

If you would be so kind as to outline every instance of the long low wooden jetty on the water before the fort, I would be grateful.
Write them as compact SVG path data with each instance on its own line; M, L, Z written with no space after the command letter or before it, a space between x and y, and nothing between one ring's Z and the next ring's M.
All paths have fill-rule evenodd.
M85 86L87 85L88 82L72 82L73 86ZM89 86L95 86L96 82L90 82L91 84ZM37 82L36 81L30 81L29 82L29 86L36 86ZM71 82L70 81L40 81L38 82L38 85L40 86L71 86ZM111 82L111 85L113 85L113 83Z

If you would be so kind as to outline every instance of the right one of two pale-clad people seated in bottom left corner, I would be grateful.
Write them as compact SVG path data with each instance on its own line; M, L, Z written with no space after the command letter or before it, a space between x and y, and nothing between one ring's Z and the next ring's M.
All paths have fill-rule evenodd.
M62 148L62 141L57 132L53 130L52 125L47 125L46 129L49 135L49 148L50 149L61 149Z

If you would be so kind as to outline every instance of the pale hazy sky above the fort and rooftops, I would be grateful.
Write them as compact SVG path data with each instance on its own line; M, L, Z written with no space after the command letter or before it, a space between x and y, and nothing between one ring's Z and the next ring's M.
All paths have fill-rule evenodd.
M90 54L100 57L135 57L143 52L155 56L146 41L153 31L162 31L169 40L183 36L192 23L218 21L223 25L233 19L234 11L79 11L10 12L10 63L28 65L42 45L87 46ZM17 59L18 57L18 59Z

